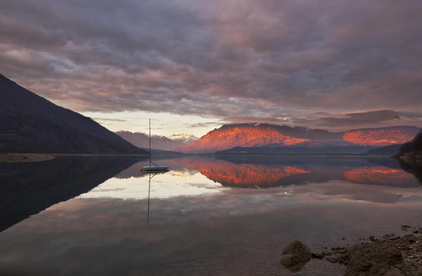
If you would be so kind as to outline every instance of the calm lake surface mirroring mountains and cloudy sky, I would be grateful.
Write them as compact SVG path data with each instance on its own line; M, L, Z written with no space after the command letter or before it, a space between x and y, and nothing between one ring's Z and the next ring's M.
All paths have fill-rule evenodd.
M387 157L59 157L0 164L0 275L343 275L311 249L422 226L419 181ZM152 178L151 178L152 177Z

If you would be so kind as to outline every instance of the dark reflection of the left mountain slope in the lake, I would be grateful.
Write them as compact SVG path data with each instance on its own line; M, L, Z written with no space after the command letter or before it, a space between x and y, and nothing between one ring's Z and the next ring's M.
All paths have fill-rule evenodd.
M53 204L88 192L140 160L105 155L0 164L0 232Z

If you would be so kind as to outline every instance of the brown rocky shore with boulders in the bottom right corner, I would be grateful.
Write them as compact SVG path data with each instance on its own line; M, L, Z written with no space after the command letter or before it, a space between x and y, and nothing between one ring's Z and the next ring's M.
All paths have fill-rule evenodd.
M422 228L402 225L407 235L369 237L365 242L348 247L323 248L311 252L302 242L291 242L280 255L280 263L292 272L298 271L311 258L347 265L345 276L421 276Z

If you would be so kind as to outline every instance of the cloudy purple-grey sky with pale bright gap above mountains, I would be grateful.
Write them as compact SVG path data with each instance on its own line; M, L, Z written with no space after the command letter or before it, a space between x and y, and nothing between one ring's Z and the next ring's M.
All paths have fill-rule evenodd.
M420 0L2 0L0 73L112 131L422 127Z

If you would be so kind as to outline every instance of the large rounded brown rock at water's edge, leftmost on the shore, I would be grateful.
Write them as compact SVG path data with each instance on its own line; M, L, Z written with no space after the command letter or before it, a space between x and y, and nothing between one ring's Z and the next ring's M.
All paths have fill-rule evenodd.
M302 242L294 241L280 255L280 263L292 272L301 270L311 259L312 253Z

